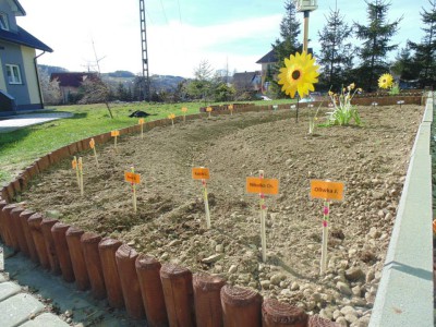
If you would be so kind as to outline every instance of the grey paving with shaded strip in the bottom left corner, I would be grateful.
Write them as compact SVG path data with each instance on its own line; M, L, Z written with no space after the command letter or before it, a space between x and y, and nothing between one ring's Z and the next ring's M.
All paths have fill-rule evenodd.
M21 252L0 243L1 247L4 271L11 279L0 272L1 327L147 326L145 319L130 318L125 310L111 308L107 300L95 300L90 291L78 291L74 282L65 282Z

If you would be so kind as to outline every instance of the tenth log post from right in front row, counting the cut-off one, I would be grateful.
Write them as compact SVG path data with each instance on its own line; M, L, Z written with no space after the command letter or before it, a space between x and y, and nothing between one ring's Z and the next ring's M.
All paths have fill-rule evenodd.
M66 232L66 243L70 251L71 263L75 276L75 284L78 290L86 291L89 289L89 277L86 270L86 263L83 256L81 238L84 231L75 226L70 227Z

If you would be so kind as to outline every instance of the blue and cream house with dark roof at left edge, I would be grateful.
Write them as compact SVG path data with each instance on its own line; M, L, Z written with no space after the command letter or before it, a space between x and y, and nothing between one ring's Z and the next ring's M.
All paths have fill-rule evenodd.
M0 0L0 114L43 109L37 59L53 50L16 25L26 12L17 0ZM36 50L43 52L36 56Z

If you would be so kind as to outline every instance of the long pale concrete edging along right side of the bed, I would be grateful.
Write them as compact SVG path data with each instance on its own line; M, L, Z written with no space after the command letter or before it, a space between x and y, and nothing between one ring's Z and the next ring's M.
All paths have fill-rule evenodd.
M427 98L370 327L433 327L433 237L431 125L435 104Z

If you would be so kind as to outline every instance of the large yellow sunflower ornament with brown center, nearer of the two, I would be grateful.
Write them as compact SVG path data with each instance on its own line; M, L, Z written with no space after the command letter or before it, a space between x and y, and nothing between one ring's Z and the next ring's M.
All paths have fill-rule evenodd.
M284 58L284 68L280 69L279 84L282 84L281 90L291 98L295 97L298 92L300 97L308 95L310 90L315 90L314 84L318 82L319 65L315 64L312 55L303 51L295 56L291 55Z

